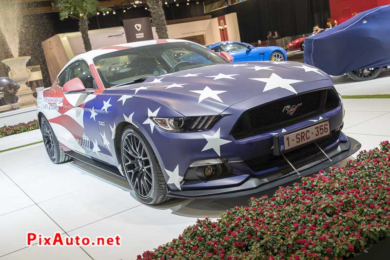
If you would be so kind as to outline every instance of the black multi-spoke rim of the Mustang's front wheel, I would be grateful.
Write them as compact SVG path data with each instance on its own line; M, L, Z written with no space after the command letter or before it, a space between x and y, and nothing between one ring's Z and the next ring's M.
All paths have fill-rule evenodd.
M153 175L143 143L131 133L124 140L122 153L126 174L134 191L138 196L148 197L152 191Z

